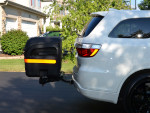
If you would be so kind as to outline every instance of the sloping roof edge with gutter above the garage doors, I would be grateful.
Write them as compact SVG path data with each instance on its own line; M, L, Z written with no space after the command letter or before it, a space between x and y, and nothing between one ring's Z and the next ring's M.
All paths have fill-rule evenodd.
M34 14L38 14L38 15L40 15L42 17L46 17L46 14L41 12L41 11L38 11L36 9L30 8L30 7L27 7L27 6L24 6L24 5L21 5L21 4L9 1L9 0L0 0L0 4L1 5L10 5L10 6L13 6L13 7L16 7L16 8L19 8L19 9L22 9L22 10L34 13Z

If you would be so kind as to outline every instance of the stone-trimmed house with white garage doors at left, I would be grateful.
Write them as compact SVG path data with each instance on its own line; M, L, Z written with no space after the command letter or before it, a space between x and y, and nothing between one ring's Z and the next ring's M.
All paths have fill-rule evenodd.
M45 18L40 0L0 0L1 35L11 29L20 29L29 37L38 36Z

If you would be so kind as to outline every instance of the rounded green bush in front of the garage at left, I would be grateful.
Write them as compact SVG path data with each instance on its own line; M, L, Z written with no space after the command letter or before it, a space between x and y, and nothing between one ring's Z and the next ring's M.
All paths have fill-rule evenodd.
M8 55L22 55L29 37L21 30L10 30L1 37L2 50Z

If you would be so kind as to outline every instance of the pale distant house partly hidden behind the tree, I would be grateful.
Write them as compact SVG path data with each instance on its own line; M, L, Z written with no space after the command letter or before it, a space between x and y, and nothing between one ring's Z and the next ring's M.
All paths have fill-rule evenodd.
M54 0L42 0L42 2L41 2L42 11L45 14L49 13L49 15L46 18L45 27L50 25L52 27L59 26L60 28L62 28L62 22L61 22L61 20L57 20L57 18L67 15L68 11L66 9L64 9L64 10L60 11L59 14L53 15L53 19L51 19L50 15L52 14L53 8L50 7L50 5L53 4L53 1ZM56 2L57 2L57 5L59 7L61 7L63 0L56 0Z

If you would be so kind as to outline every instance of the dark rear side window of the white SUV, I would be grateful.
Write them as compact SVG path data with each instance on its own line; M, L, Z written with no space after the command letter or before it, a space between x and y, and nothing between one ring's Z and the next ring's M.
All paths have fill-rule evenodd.
M109 34L111 38L150 38L150 18L127 19Z

